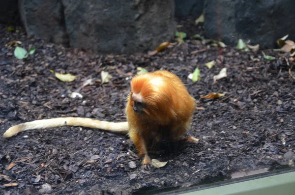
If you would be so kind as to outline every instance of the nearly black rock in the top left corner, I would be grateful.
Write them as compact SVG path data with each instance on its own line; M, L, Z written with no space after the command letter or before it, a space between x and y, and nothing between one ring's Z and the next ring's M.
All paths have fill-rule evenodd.
M17 0L0 1L0 24L15 25L20 23Z

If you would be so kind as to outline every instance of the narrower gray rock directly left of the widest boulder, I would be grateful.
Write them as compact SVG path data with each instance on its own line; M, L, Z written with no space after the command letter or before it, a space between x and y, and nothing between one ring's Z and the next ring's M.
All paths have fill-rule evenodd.
M21 20L29 36L68 45L60 0L19 0Z

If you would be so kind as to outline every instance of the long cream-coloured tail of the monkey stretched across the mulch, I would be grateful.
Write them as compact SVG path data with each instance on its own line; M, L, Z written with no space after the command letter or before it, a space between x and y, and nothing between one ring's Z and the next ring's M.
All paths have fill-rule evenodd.
M3 136L5 138L10 138L17 135L20 132L32 130L32 129L46 129L52 127L62 127L64 125L68 126L82 126L89 127L93 129L102 129L116 133L127 134L128 133L128 122L107 122L101 120L95 120L91 118L81 118L81 117L61 117L43 120L34 120L31 122L22 123L10 127Z

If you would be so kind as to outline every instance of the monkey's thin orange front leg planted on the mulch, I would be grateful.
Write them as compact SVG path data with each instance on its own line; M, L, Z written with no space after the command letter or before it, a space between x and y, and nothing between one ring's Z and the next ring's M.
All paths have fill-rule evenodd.
M150 164L150 158L148 156L146 142L145 142L145 139L142 137L142 135L140 135L140 133L131 129L129 132L129 137L135 144L135 147L137 148L139 155L141 157L144 156L144 160L142 164L144 165Z

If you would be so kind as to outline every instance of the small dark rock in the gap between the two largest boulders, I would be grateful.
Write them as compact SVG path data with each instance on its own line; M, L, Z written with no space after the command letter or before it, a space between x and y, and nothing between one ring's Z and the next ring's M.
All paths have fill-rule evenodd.
M199 17L203 13L205 0L174 0L175 16L183 18L185 16Z

